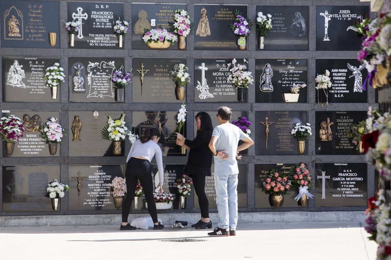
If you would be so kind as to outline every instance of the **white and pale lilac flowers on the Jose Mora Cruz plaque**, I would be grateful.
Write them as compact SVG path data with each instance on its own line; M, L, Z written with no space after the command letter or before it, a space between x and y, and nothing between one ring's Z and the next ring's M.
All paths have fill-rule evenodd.
M230 69L230 75L227 78L228 83L234 84L237 88L248 88L248 84L253 85L253 76L250 71L245 71L247 69L245 63L248 63L246 59L243 59L243 65L240 65L235 58L232 63L228 63Z

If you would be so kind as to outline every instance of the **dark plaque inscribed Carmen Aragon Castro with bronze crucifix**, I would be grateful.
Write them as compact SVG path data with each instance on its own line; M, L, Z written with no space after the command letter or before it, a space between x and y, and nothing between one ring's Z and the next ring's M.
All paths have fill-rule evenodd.
M113 193L108 186L115 177L125 178L124 164L68 165L68 210L115 210Z

